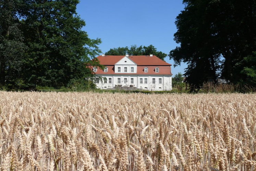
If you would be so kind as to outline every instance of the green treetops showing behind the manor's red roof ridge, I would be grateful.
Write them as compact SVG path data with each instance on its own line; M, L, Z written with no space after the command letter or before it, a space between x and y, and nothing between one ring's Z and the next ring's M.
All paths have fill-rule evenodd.
M118 48L113 48L110 49L108 52L105 53L106 55L133 55L133 56L138 56L138 55L156 55L158 58L164 61L164 58L167 56L167 54L157 51L157 48L155 48L153 45L149 45L148 47L144 46L142 47L137 45L131 45L130 48L128 47L118 47Z

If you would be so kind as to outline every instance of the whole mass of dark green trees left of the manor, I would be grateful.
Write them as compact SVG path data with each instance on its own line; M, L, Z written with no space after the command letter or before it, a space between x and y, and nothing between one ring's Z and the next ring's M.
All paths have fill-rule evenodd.
M0 84L67 86L91 76L101 51L77 15L78 0L0 0Z

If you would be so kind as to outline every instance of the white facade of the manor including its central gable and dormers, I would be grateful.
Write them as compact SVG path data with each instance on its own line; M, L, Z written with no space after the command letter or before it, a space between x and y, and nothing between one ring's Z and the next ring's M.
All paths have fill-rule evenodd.
M106 65L106 67L108 66ZM96 68L93 69L96 75L99 76L96 79L96 86L100 89L127 86L150 91L172 90L172 74L161 75L157 65L154 65L154 73L156 74L153 74L152 70L151 73L148 73L148 67L152 69L152 66L143 65L144 73L137 73L137 64L126 55L114 64L114 68L112 65L113 70L109 67L103 70L103 73L98 73ZM108 74L108 70L112 73Z

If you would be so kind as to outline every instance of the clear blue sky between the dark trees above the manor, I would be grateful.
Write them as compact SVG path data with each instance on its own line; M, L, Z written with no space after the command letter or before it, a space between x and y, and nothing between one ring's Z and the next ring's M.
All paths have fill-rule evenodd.
M80 0L77 13L84 19L89 38L101 38L102 53L111 48L152 44L166 54L179 46L173 40L176 16L184 9L182 0ZM164 59L173 65L169 57ZM184 74L186 64L173 67Z

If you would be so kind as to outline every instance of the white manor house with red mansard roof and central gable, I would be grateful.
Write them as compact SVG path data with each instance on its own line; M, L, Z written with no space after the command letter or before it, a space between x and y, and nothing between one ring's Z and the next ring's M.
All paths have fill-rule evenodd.
M109 56L102 54L97 59L105 68L92 67L96 86L100 89L114 87L136 87L138 89L161 91L172 90L171 64L155 55Z

